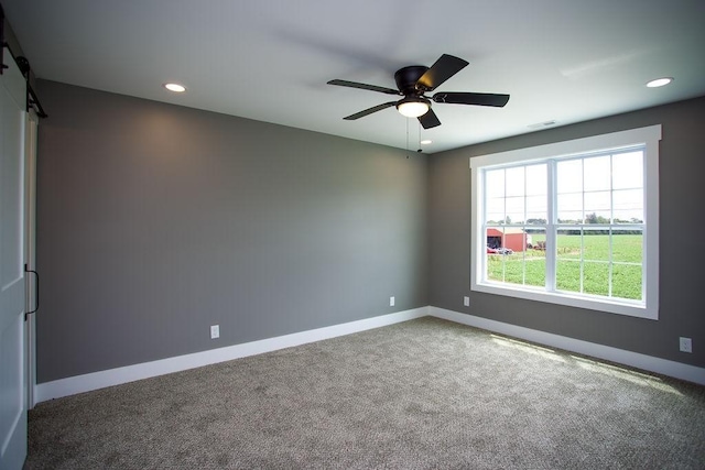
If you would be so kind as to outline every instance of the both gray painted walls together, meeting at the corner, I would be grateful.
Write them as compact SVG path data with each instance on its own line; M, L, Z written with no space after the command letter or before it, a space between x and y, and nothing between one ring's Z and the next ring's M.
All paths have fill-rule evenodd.
M39 143L39 383L425 305L705 367L705 98L406 160L224 114L37 88L50 113ZM657 123L658 321L469 291L470 156ZM677 351L679 336L693 338L692 354Z

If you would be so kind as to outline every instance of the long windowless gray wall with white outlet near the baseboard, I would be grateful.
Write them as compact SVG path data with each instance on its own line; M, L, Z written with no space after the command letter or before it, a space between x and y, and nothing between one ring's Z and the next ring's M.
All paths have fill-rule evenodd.
M425 156L37 87L39 383L429 304Z

